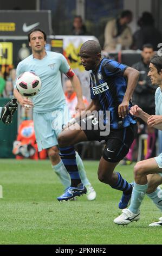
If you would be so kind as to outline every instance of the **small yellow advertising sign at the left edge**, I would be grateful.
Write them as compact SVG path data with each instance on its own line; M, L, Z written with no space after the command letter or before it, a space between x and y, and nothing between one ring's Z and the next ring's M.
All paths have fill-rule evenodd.
M13 45L12 42L0 42L0 65L11 65Z

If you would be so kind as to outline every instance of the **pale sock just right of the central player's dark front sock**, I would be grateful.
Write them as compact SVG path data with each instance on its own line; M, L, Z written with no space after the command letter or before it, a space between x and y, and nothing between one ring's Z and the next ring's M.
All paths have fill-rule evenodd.
M77 169L79 172L80 179L85 186L90 185L90 182L87 178L85 167L83 165L83 161L81 160L80 155L76 151L75 151L75 154L76 154L76 164L77 164Z

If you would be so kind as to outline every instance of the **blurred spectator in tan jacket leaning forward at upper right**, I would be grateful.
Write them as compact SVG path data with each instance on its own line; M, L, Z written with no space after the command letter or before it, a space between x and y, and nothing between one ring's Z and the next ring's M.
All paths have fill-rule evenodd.
M117 19L107 22L105 27L105 43L103 50L119 51L127 50L132 45L131 28L127 26L132 21L132 12L129 10L122 11Z

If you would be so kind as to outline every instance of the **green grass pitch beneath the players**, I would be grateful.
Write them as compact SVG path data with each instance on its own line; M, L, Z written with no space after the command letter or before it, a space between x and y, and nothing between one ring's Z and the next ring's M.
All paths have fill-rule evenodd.
M121 211L120 191L98 181L98 161L85 161L89 180L97 198L86 196L73 202L57 202L63 188L47 161L0 160L1 232L0 244L161 244L162 228L148 224L161 216L145 197L141 219L128 226L118 226L113 219ZM132 181L133 166L118 166L121 174Z

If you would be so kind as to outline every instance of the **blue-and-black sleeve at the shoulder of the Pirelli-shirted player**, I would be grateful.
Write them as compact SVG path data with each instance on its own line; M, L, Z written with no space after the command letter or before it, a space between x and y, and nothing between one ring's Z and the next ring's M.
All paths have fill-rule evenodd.
M107 76L122 76L128 66L116 62L115 60L108 60L108 62L103 65L103 68Z

